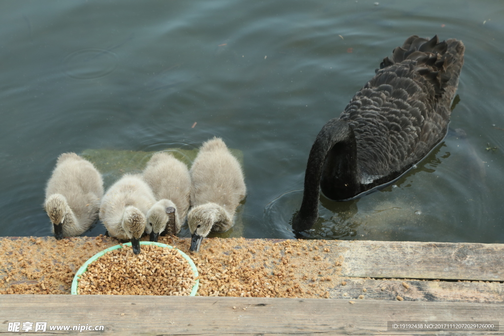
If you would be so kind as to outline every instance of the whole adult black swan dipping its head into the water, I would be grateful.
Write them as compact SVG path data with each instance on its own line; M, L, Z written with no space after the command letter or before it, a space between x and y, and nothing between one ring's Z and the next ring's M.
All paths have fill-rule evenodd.
M445 138L464 49L456 39L413 35L384 58L313 143L295 231L317 221L319 186L334 200L355 197L395 180Z

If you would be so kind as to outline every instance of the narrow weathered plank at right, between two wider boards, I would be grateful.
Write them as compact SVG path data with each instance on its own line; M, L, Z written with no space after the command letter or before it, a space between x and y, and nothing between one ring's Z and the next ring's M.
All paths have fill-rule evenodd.
M338 284L329 290L331 298L357 300L396 300L436 302L504 302L504 284L465 283L418 280L362 280L350 278L346 285ZM404 283L404 285L403 285Z

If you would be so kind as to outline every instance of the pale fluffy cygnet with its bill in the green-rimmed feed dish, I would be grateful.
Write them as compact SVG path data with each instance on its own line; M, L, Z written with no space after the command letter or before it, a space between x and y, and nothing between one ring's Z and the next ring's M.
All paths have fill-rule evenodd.
M146 215L154 203L154 194L142 175L126 174L103 196L100 219L111 237L131 240L133 252L139 254Z

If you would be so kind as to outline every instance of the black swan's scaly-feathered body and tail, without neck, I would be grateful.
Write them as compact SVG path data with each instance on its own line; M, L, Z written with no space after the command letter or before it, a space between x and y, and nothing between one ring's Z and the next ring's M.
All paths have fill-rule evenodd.
M408 38L352 98L340 119L355 132L365 189L399 176L446 135L464 45Z

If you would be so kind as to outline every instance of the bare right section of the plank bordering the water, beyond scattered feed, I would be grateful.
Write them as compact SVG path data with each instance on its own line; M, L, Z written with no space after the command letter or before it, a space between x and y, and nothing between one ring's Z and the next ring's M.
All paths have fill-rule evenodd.
M504 244L338 241L342 275L504 281Z

